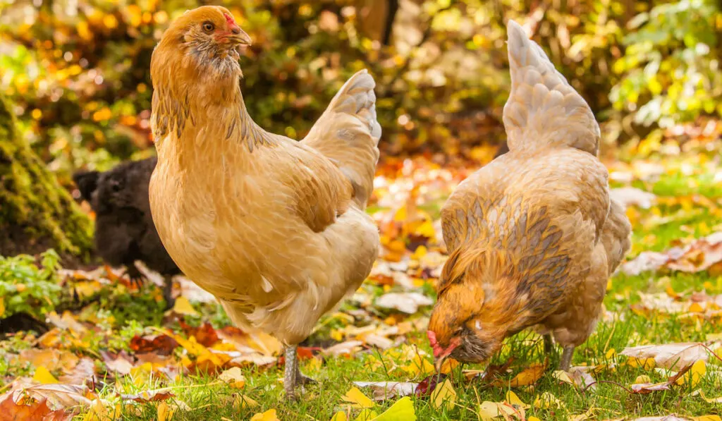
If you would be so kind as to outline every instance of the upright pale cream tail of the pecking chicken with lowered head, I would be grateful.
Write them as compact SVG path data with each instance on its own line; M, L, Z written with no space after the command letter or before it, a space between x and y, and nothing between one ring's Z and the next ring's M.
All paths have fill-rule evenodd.
M599 124L544 50L513 20L508 26L511 92L504 106L509 149L575 147L596 155Z

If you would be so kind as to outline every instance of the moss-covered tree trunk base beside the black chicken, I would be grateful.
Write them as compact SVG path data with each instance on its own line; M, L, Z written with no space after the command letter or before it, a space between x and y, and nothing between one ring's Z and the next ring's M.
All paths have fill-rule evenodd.
M64 259L84 260L92 248L92 222L19 136L0 96L0 256L48 248Z

